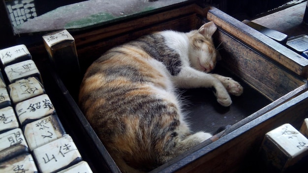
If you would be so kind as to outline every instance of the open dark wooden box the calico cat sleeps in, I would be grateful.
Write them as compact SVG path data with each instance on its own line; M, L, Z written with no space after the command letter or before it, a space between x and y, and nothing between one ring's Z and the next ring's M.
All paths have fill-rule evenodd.
M222 60L215 72L240 80L243 96L232 97L233 104L223 108L207 89L186 91L193 103L187 108L192 112L193 130L215 129L215 124L228 128L153 173L258 172L258 151L264 135L284 123L299 129L308 116L308 60L214 7L175 5L71 34L84 74L94 59L115 45L156 30L197 29L207 21L218 26L214 40L216 45L221 44ZM42 49L30 48L32 56L41 54ZM92 171L120 172L76 104L80 81L62 81L46 59L37 63L66 132L81 148ZM213 124L209 117L223 123Z

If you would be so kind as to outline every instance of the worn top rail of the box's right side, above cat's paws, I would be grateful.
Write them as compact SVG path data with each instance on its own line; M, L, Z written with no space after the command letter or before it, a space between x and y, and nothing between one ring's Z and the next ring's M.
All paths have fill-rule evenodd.
M308 78L308 59L215 7L209 10L207 19L213 21L219 28L234 35L259 53L272 58L297 75L303 76L306 79Z

